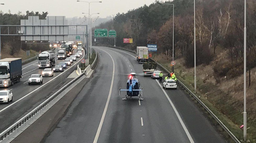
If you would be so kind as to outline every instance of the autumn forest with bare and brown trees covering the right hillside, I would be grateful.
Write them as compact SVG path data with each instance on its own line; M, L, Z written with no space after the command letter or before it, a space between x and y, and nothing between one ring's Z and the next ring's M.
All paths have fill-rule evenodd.
M193 0L174 0L174 54L194 66ZM227 60L213 66L217 77L238 76L243 71L244 3L239 0L196 1L196 62L209 64L217 54L227 51ZM256 66L256 3L247 1L247 71ZM157 44L158 54L172 56L172 5L155 1L127 13L118 13L113 21L96 28L115 29L116 46L135 49L136 46ZM133 38L124 44L123 38ZM113 38L101 38L96 44L113 45ZM216 51L218 49L219 52Z

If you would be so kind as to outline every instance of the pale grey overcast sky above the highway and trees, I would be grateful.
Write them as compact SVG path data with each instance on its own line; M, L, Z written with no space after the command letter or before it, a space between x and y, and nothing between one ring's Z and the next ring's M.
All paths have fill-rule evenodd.
M85 0L95 1L95 0ZM97 0L96 0L97 1ZM102 3L91 3L90 13L100 13L99 16L105 18L107 16L116 15L118 12L127 12L144 4L149 5L155 0L99 0ZM10 9L11 13L23 14L29 11L48 11L48 16L66 16L66 17L83 17L82 12L88 12L88 3L76 2L76 0L0 0L0 10L4 13Z

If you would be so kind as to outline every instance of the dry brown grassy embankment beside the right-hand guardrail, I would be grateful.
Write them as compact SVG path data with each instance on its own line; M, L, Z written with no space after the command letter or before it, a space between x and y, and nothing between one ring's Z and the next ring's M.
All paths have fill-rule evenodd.
M209 65L197 66L197 96L210 110L230 129L238 138L243 139L243 75L242 71L236 78L223 77L217 82L213 66L219 61L228 60L226 51L218 53L215 60ZM172 57L163 54L153 54L154 60L171 71L170 61ZM191 91L194 91L194 68L186 68L184 59L175 60L176 77L184 83ZM248 75L248 72L247 72ZM248 76L247 76L248 77ZM248 79L247 79L248 81ZM247 136L251 142L256 142L256 69L251 70L251 86L247 84ZM209 116L209 118L212 118ZM215 123L214 123L215 124ZM221 129L220 129L221 130Z

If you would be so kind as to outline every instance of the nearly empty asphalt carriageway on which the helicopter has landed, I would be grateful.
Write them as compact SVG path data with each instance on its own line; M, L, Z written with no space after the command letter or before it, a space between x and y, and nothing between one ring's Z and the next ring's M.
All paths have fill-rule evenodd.
M144 100L122 100L126 74L141 73L142 64L126 51L94 49L93 77L44 142L225 142L179 87L164 90L157 80L137 76Z

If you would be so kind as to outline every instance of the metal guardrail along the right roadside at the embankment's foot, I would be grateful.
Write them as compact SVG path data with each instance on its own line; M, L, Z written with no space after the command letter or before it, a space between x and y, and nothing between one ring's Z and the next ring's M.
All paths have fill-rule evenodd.
M129 50L129 49L124 49L124 48L120 48L120 47L113 47L113 46L109 46L111 48L117 48L117 49L121 49L121 50L125 50L125 51L129 51L131 53L136 53L135 51ZM166 72L170 73L170 71L168 69L166 69L164 66L162 66L160 63L154 61L153 59L149 58L150 60L152 60L153 62L157 63L157 65L159 67L161 67L163 70L165 70ZM220 121L220 119L190 90L188 89L185 84L183 84L179 79L178 79L179 84L185 89L187 90L187 92L189 94L191 94L200 104L201 106L204 107L205 110L207 110L207 112L212 115L212 117L219 123L219 125L229 134L229 136L237 143L241 143L236 136L230 132L230 130Z

